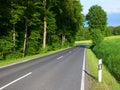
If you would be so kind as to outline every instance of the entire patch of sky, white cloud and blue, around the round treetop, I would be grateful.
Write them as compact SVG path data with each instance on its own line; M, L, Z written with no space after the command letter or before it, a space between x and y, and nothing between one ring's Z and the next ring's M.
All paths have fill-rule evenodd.
M99 5L107 13L108 26L120 26L120 0L80 0L83 14L93 5Z

